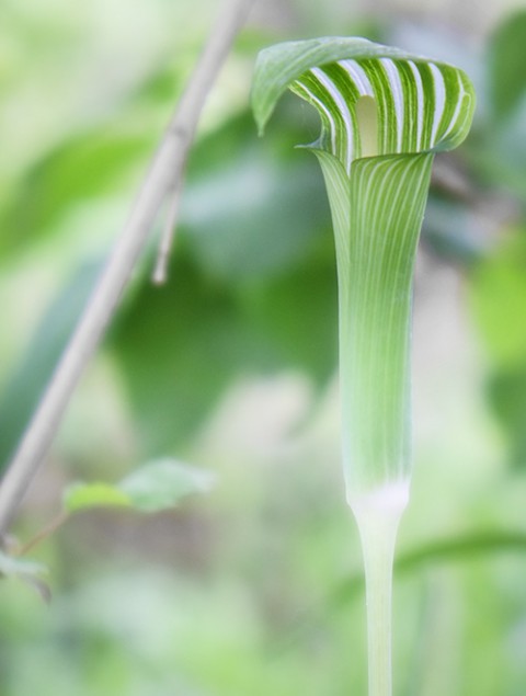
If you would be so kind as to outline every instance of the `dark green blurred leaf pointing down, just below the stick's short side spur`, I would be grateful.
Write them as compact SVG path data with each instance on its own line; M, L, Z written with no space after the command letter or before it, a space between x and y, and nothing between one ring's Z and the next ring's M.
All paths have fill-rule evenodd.
M181 246L167 285L144 278L110 343L147 453L194 432L240 367L244 340L231 288L203 277Z

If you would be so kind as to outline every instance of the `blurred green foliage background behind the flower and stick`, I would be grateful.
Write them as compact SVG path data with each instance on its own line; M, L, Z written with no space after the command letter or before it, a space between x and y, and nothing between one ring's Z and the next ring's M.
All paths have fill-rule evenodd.
M437 159L416 269L414 479L395 580L397 696L526 693L526 12L504 0L260 0L188 162L169 284L156 239L14 532L76 479L175 456L173 513L90 512L0 584L0 695L366 693L344 503L334 251L315 115L264 139L256 52L365 35L465 68L472 134ZM1 0L0 461L46 384L206 38L213 0ZM159 225L160 227L160 225ZM157 230L159 231L159 230ZM437 545L436 543L444 541ZM403 571L403 572L402 572ZM354 579L354 580L353 580Z

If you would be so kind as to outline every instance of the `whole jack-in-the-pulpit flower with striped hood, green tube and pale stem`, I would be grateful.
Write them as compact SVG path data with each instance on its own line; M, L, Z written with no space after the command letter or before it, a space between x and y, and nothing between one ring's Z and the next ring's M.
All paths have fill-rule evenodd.
M387 696L390 569L411 472L414 259L434 156L467 136L474 93L453 66L342 37L260 54L252 91L260 132L286 89L321 118L309 147L335 236L346 497L366 562L369 693Z

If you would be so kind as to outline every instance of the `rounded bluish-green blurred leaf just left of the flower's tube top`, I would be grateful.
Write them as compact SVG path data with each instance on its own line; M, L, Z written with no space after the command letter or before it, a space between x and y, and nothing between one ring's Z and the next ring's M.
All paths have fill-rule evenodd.
M311 162L272 161L253 148L188 182L181 224L203 267L236 282L296 263L327 217Z

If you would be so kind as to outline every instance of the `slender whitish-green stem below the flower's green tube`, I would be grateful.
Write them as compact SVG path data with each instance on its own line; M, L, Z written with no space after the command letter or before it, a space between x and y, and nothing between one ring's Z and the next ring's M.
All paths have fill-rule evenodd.
M401 482L348 501L358 525L365 563L369 696L392 694L392 563L408 498L409 484Z

